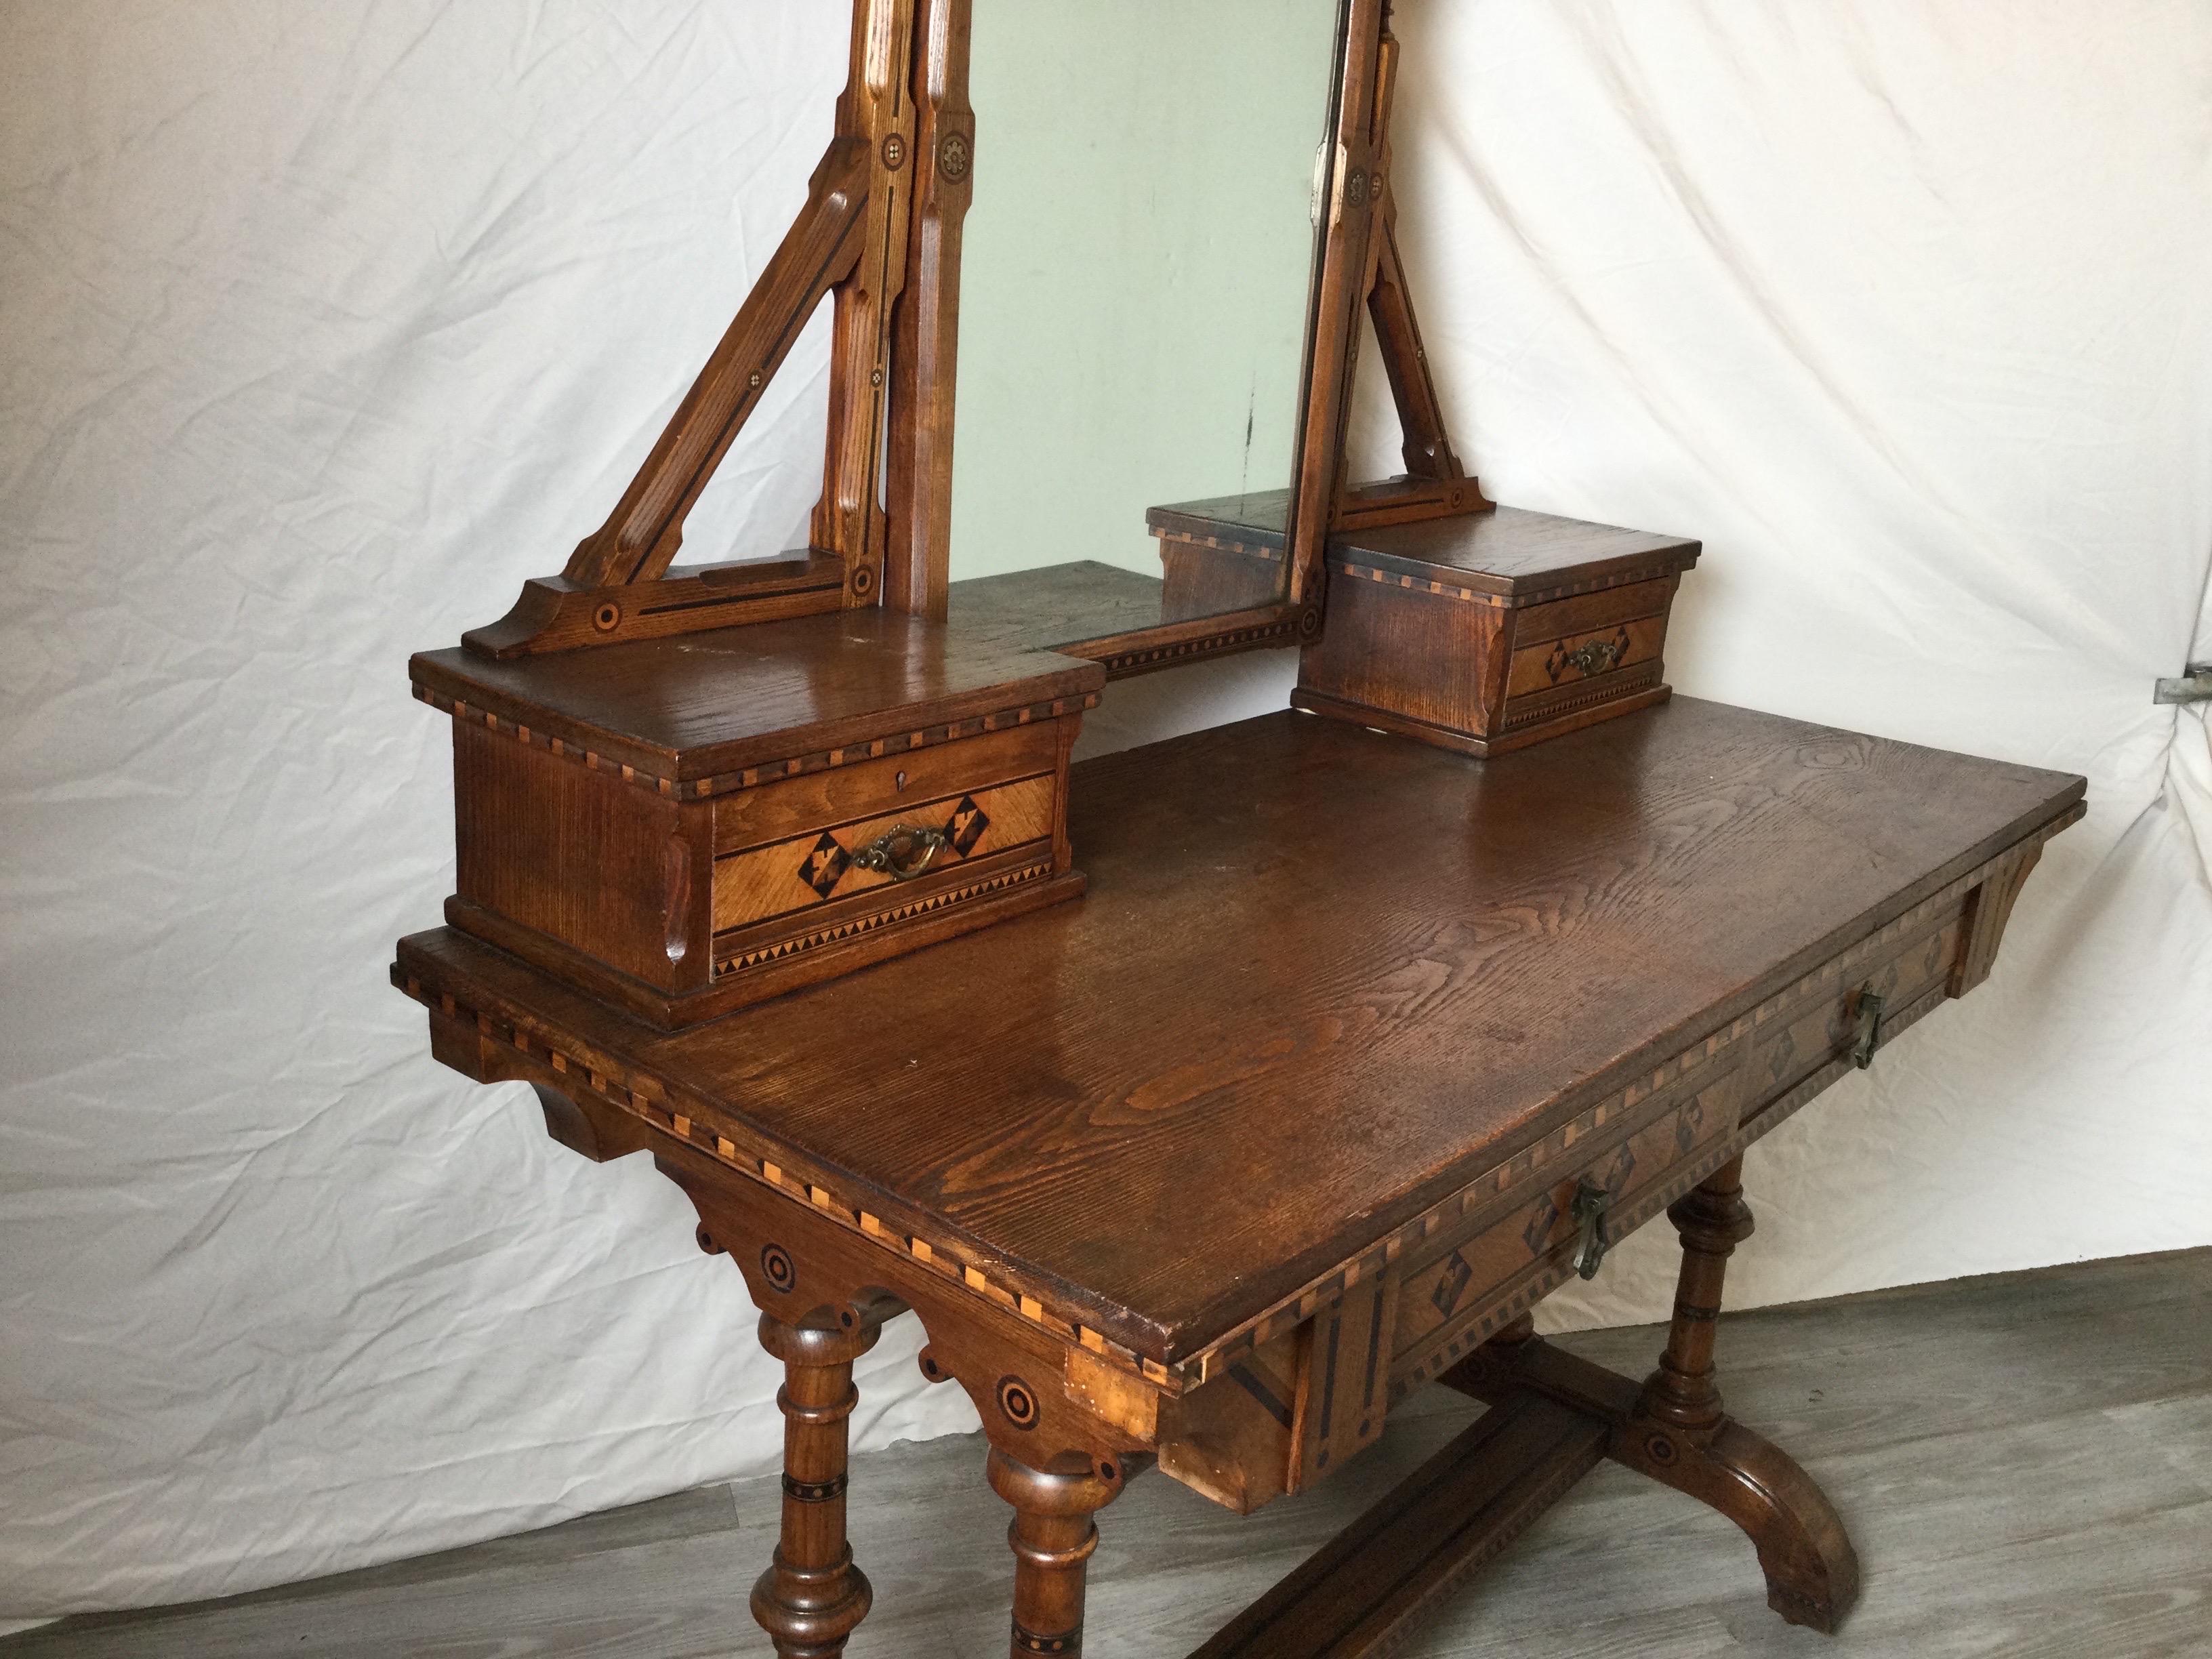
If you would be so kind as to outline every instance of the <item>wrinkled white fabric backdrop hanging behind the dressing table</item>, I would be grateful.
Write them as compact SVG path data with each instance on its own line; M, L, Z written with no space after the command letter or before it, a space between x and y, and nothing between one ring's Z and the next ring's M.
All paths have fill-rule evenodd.
M770 1467L677 1192L434 1068L383 969L451 880L405 657L619 491L803 195L836 13L0 0L0 1619ZM2212 748L2150 706L2212 655L2212 9L1400 33L1493 493L1705 538L1686 692L2093 779L1993 984L1754 1157L1741 1301L2212 1241ZM818 398L816 338L695 551L785 542ZM1285 688L1139 681L1088 741ZM1666 1265L1559 1316L1652 1316ZM911 1345L865 1442L964 1427Z

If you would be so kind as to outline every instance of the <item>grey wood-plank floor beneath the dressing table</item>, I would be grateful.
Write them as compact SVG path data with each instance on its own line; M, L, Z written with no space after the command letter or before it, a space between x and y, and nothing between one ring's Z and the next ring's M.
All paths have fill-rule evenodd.
M1650 1329L1566 1345L1641 1374ZM1730 1316L1723 1387L1827 1486L1865 1597L1829 1639L1765 1608L1728 1522L1606 1467L1409 1659L2212 1655L2212 1250ZM1442 1389L1301 1500L1239 1520L1150 1473L1102 1520L1093 1659L1172 1659L1475 1413ZM876 1613L852 1659L1000 1659L1006 1511L980 1440L854 1467ZM677 1659L765 1655L745 1615L776 1482L714 1486L369 1573L69 1619L0 1659Z

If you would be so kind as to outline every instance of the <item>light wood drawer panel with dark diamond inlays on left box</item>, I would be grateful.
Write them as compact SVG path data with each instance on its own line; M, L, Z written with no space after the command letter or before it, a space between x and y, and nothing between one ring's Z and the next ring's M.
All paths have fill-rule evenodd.
M805 830L787 841L748 847L714 860L714 933L787 922L876 889L925 891L925 883L958 876L962 865L1026 845L1051 847L1057 776L1042 774L995 787L960 790L916 801L874 818ZM900 830L936 830L947 845L918 880L863 869L858 856ZM717 938L717 949L719 949Z

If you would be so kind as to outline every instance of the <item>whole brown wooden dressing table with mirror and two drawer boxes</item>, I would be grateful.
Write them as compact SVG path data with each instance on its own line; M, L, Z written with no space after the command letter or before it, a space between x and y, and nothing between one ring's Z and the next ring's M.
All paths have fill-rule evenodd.
M909 1310L1013 1511L1013 1655L1082 1650L1141 1471L1250 1513L1431 1383L1489 1411L1201 1655L1391 1652L1608 1458L1834 1630L1843 1520L1717 1385L1743 1155L1989 978L2084 785L1672 699L1699 546L1493 507L1447 438L1383 0L1270 0L1250 51L1250 7L1155 9L1071 62L1082 4L856 0L807 208L615 515L411 666L460 860L394 984L743 1274L779 1655L869 1610L852 1367ZM825 299L807 546L677 564ZM1407 471L1356 484L1367 325ZM1285 644L1294 708L1071 761L1108 681ZM1661 1212L1650 1378L1533 1336Z

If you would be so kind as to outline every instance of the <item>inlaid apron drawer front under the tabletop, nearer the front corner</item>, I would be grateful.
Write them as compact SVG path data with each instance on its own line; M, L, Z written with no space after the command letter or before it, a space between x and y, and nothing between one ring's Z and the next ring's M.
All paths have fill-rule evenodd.
M1504 1310L1528 1301L1568 1272L1577 1248L1575 1190L1584 1179L1613 1199L1606 1237L1621 1239L1646 1221L1670 1175L1694 1168L1736 1130L1741 1077L1721 1066L1694 1093L1663 1106L1626 1137L1559 1161L1559 1179L1506 1214L1478 1217L1473 1228L1433 1252L1422 1252L1402 1274L1391 1343L1394 1380L1425 1380L1449 1358L1444 1349L1473 1334L1484 1316L1502 1323ZM1526 1305L1526 1303L1520 1303ZM1486 1332L1484 1332L1486 1334ZM1462 1345L1464 1347L1464 1345ZM1453 1349L1453 1354L1460 1349Z

